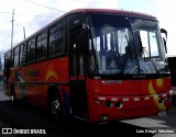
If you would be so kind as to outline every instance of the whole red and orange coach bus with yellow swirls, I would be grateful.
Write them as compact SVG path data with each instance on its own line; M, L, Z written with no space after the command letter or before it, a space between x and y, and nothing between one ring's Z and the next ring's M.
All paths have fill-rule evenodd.
M73 10L4 54L4 94L90 123L165 113L172 85L161 32L152 15Z

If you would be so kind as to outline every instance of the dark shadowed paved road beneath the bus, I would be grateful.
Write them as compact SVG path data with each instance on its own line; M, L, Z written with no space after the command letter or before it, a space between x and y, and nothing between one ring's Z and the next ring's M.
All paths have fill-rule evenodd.
M45 112L25 103L12 104L0 92L0 133L1 128L44 129L45 136L57 137L176 137L176 107L166 117L151 116L136 119L91 125L78 119L64 123L54 122ZM158 129L174 130L174 134L157 134ZM26 130L28 132L28 130ZM13 135L16 136L16 135ZM41 135L43 137L44 135ZM25 137L25 136L24 136Z

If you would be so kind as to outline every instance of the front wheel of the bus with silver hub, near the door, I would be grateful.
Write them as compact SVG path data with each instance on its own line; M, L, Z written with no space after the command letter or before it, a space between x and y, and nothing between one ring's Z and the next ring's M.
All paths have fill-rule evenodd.
M62 99L58 92L48 93L48 113L50 115L56 119L61 121L63 117L63 107L62 107Z

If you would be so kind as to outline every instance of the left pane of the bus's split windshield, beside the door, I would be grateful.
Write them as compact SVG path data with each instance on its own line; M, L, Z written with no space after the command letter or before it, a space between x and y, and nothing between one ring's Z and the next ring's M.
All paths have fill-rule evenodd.
M129 65L138 66L131 24L128 18L91 15L89 26L90 73L130 73Z

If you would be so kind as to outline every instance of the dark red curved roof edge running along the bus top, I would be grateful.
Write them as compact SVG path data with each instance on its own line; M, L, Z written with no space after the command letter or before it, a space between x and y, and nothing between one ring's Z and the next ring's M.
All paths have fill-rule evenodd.
M125 10L116 10L116 9L75 9L75 10L66 12L65 14L63 14L59 18L57 18L53 22L48 23L44 27L42 27L38 31L34 32L32 35L30 35L25 39L23 39L20 43L15 44L15 46L13 46L12 48L15 48L18 45L24 43L26 39L31 38L32 36L34 36L35 34L40 33L41 31L47 28L50 25L56 23L57 21L59 21L59 20L68 16L69 14L75 14L75 13L85 13L85 14L88 14L88 13L105 13L106 14L106 13L108 13L108 14L119 14L119 15L136 16L136 18L144 18L144 19L150 19L150 20L156 20L155 16L152 16L150 14L145 14L145 13L141 13L141 12L133 12L133 11L125 11ZM12 48L10 48L10 49L12 49Z

